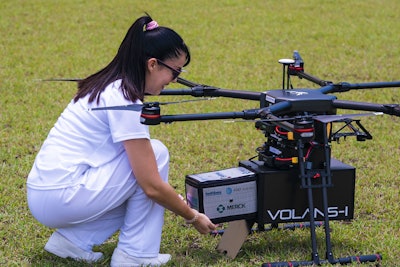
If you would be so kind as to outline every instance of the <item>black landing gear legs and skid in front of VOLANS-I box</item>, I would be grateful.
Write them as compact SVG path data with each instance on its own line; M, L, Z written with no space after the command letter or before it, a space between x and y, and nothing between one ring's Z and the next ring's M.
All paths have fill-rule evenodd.
M303 150L304 143L300 138L297 142L298 147L298 158L299 158L299 178L301 180L301 187L307 190L308 196L308 207L309 207L309 226L310 226L310 235L311 235L311 261L288 261L288 262L272 262L272 263L264 263L262 267L295 267L295 266L315 266L321 264L349 264L352 262L375 262L380 261L382 256L379 254L374 255L362 255L362 256L350 256L335 259L332 252L332 244L331 244L331 236L330 236L330 227L329 227L329 212L328 212L328 187L332 187L332 174L331 174L331 153L330 153L330 145L327 136L327 126L323 124L323 133L324 133L324 157L325 163L323 169L312 169L308 167L307 162L304 160ZM320 183L312 183L312 180L320 179ZM315 208L314 208L314 199L313 199L313 191L316 188L320 188L322 190L322 202L323 202L323 212L324 212L324 227L325 227L325 247L326 247L326 259L321 260L318 254L317 249L317 238L316 238L316 224L315 224Z

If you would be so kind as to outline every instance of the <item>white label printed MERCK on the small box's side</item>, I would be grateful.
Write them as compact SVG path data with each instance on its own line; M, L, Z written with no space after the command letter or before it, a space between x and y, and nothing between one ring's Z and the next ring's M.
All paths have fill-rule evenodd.
M255 213L256 181L204 188L203 205L210 219Z

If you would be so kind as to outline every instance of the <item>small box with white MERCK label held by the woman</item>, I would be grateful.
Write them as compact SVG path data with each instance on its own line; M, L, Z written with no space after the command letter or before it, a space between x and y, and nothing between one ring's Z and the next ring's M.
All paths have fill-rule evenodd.
M256 218L256 175L246 168L187 175L185 187L190 207L213 223Z

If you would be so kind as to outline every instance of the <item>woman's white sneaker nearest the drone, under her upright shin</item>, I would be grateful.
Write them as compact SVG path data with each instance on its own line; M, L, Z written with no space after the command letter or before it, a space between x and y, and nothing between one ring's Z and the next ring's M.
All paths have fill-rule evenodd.
M158 254L158 257L154 258L134 257L116 248L111 258L111 267L161 266L166 264L170 259L170 254Z

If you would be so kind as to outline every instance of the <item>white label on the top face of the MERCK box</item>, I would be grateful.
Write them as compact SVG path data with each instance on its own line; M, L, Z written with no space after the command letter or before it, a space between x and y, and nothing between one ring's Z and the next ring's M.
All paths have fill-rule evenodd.
M225 179L233 179L243 176L254 175L254 172L249 171L244 167L235 167L220 171L205 172L200 174L191 175L192 178L196 179L200 183L208 181L219 181Z

